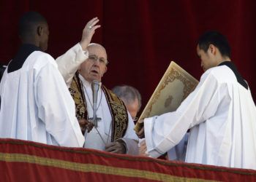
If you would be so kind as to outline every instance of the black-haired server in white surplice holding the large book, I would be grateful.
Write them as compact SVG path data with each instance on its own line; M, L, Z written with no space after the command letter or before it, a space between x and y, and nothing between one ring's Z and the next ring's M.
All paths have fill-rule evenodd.
M248 84L230 61L227 39L216 31L202 36L197 55L205 73L174 112L144 119L146 149L159 157L190 129L185 161L256 169L256 108Z

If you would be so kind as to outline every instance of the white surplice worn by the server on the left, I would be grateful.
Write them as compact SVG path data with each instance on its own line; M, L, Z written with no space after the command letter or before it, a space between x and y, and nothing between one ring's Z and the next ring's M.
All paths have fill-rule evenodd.
M75 103L55 60L34 51L20 69L7 69L0 84L0 137L83 146Z

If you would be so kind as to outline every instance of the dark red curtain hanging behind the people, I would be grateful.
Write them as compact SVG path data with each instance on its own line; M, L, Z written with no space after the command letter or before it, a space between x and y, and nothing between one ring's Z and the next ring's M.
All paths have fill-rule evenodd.
M18 20L26 11L44 15L50 27L48 53L57 58L80 41L83 27L99 17L102 28L93 42L108 52L104 84L130 84L147 103L170 60L200 79L196 55L198 36L217 30L227 36L232 60L256 100L255 24L253 0L0 0L0 63L7 64L18 50Z

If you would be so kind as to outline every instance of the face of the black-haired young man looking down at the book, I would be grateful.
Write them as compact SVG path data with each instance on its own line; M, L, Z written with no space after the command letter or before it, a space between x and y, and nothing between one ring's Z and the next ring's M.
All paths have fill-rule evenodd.
M212 52L211 47L209 47L207 52L205 52L204 50L200 50L197 44L197 55L201 60L201 67L203 68L203 71L217 66L216 62L214 61L214 53Z

